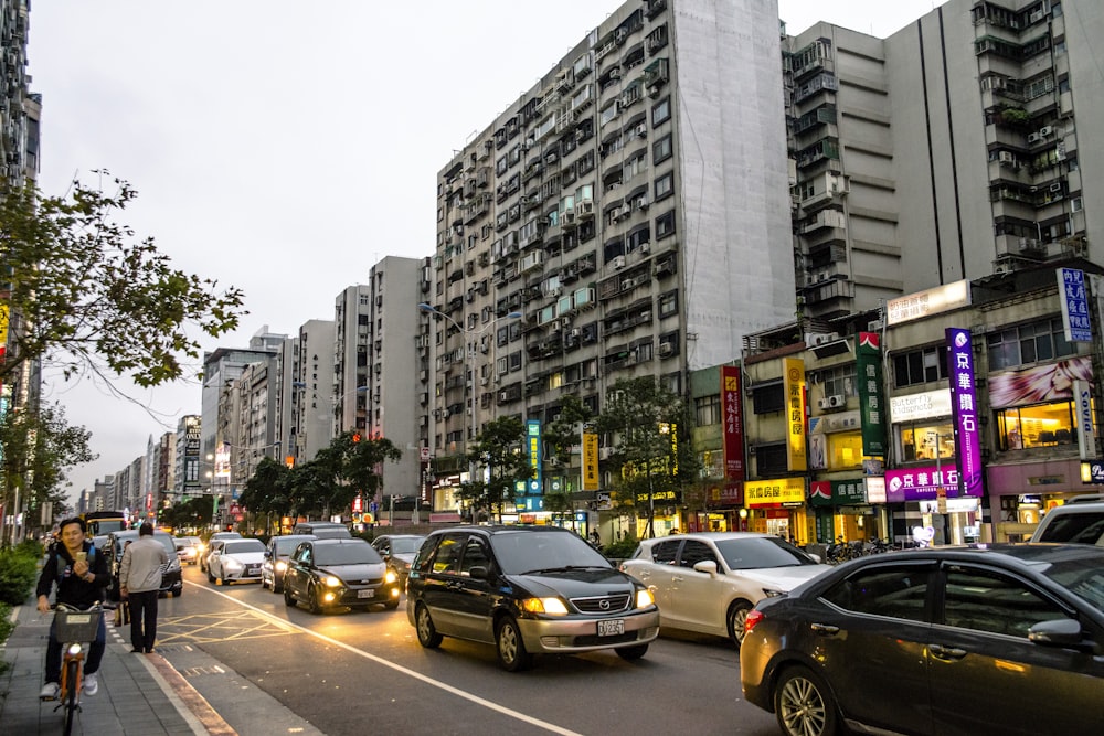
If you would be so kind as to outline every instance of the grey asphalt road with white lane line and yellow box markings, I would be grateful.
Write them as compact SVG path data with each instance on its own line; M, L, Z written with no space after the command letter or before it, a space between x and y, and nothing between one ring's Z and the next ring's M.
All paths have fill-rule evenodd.
M183 595L162 598L159 618L169 662L197 647L335 736L778 733L772 714L741 700L739 658L723 639L665 633L636 662L613 652L544 657L511 674L489 646L446 639L423 649L405 600L394 611L314 616L257 584L214 586L198 567L185 567ZM222 673L185 674L202 692L204 678ZM223 715L248 730L232 711Z

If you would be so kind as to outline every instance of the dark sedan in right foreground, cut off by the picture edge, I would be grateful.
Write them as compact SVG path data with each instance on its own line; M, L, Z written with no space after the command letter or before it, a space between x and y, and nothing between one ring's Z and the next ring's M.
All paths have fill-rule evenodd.
M843 563L762 600L744 697L784 734L1104 733L1104 550L973 545Z

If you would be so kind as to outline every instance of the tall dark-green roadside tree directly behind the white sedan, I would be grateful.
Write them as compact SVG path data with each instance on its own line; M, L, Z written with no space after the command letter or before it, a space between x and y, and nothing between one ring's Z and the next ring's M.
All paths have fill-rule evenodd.
M678 501L678 488L692 478L686 405L654 376L620 378L606 392L597 426L613 439L612 465L618 500L631 499L647 515L646 535L656 534L656 500Z

